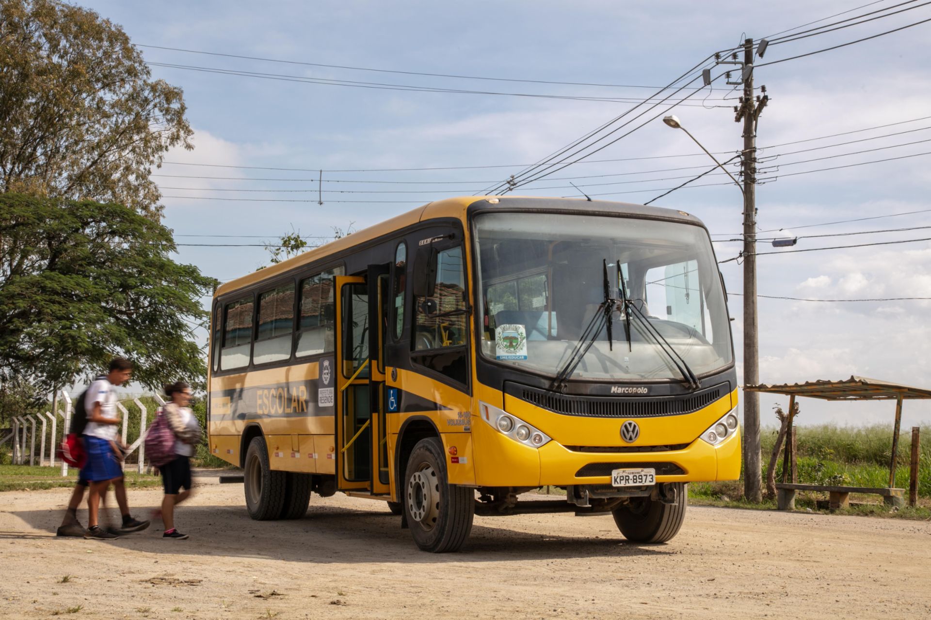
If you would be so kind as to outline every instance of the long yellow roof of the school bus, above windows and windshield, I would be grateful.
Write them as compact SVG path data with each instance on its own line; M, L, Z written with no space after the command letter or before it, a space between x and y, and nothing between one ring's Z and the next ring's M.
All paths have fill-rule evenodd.
M470 208L471 207L471 208ZM235 280L221 284L213 297L235 291L244 286L274 278L277 274L300 267L319 258L328 257L357 244L390 234L392 231L411 226L420 221L435 218L465 219L466 211L484 211L501 209L565 209L587 211L591 213L614 213L643 218L667 219L702 225L701 220L684 211L666 209L642 204L616 203L611 201L588 201L585 198L548 198L540 196L456 196L418 206L412 211L394 218L385 219L361 231L353 232L340 239L315 247L304 254L284 260L263 270L253 271Z

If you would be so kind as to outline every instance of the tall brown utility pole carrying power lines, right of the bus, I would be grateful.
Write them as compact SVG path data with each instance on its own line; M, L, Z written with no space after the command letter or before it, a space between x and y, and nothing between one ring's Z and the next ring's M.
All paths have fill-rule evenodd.
M767 96L753 97L753 39L744 41L744 96L735 108L735 121L744 122L742 173L744 181L744 385L760 383L756 287L756 125ZM765 86L762 87L765 93ZM762 501L760 454L760 396L744 391L744 496Z

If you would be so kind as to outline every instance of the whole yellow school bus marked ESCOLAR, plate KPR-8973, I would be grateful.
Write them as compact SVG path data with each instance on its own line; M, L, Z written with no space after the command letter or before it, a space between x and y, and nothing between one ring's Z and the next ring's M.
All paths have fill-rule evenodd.
M432 552L475 514L563 510L656 543L687 482L740 472L726 293L682 211L426 204L223 284L210 334L209 445L253 519L343 492Z

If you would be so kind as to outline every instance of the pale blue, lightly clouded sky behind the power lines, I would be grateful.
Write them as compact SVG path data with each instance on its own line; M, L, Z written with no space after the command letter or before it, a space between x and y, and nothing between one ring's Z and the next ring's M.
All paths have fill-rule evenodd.
M760 38L865 5L848 2L89 2L123 26L132 41L271 59L529 80L631 86L662 86L717 49L744 36ZM828 21L897 4L892 0ZM917 4L917 3L916 3ZM895 17L772 46L764 61L834 46L907 23L931 18L920 7ZM815 25L827 23L818 22ZM931 22L854 46L804 59L758 67L756 84L772 97L762 113L758 145L814 139L875 125L902 123L833 139L812 140L761 151L764 177L834 165L931 152L931 74L927 40ZM151 62L278 73L284 75L413 86L478 89L571 97L645 97L637 87L560 86L373 73L144 47ZM759 63L758 63L759 64ZM169 162L324 169L324 205L317 204L317 174L166 164L156 177L166 198L165 221L178 235L259 235L273 239L293 225L305 235L328 236L350 222L364 228L435 198L472 193L519 171L514 168L411 172L326 172L334 169L529 164L623 112L629 103L495 95L402 92L202 73L153 67L182 86L196 149L171 152ZM716 83L717 84L717 83ZM713 152L741 148L740 127L730 106L737 93L716 87L674 112ZM704 101L704 104L702 104ZM716 107L719 106L719 107ZM929 127L924 131L922 128ZM911 131L915 130L915 131ZM911 131L898 136L893 132ZM874 139L875 138L875 139ZM839 142L856 144L797 152ZM917 144L902 145L905 142ZM843 154L891 147L876 152ZM706 166L681 131L658 120L593 159L663 157L573 165L554 177L630 174L576 179L589 193L645 202ZM675 155L676 157L668 157ZM778 155L778 156L776 156ZM729 157L730 155L722 155ZM803 162L820 157L830 159ZM802 227L850 218L872 218L931 209L931 155L879 164L777 178L758 187L762 230ZM703 168L695 168L695 172ZM662 170L647 173L644 171ZM275 180L250 180L250 178ZM650 180L654 179L654 180ZM335 182L335 181L340 182ZM359 181L404 181L362 183ZM708 176L707 182L722 182ZM444 181L446 185L428 182ZM599 182L636 181L592 186ZM541 181L522 189L533 195L571 195L565 181ZM561 186L561 187L560 187ZM175 189L181 188L181 189ZM556 189L560 188L560 189ZM232 190L232 191L220 191ZM262 190L262 191L242 191ZM272 190L277 190L272 191ZM290 190L290 191L280 191ZM296 191L295 191L296 190ZM395 193L336 193L335 191ZM649 190L649 191L640 191ZM636 191L636 192L634 192ZM203 196L208 200L169 198ZM236 202L217 198L262 198L308 202ZM740 194L712 186L671 193L657 204L703 218L716 239L741 230ZM364 204L336 201L398 201ZM843 225L793 229L826 234L931 226L931 213ZM802 239L797 248L931 237L897 231L848 237ZM181 243L262 243L263 239L178 237ZM734 257L739 243L715 244L719 259ZM760 251L773 248L761 244ZM261 247L182 247L184 262L227 280L267 260ZM742 288L736 262L722 265L728 289ZM759 257L759 292L806 298L931 297L931 244L880 245L825 252ZM931 384L931 302L813 303L760 301L761 378L766 382L875 376L922 386ZM735 349L741 358L742 311L736 317ZM738 367L738 372L740 368ZM762 418L775 418L762 399ZM889 422L888 403L803 402L802 423ZM905 426L931 419L931 405L910 402Z

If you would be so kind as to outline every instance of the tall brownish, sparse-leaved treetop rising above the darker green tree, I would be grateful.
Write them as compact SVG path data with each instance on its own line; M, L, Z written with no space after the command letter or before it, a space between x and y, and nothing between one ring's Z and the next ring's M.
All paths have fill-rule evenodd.
M193 148L182 90L123 30L52 0L0 2L0 191L126 204L158 218L149 175Z

